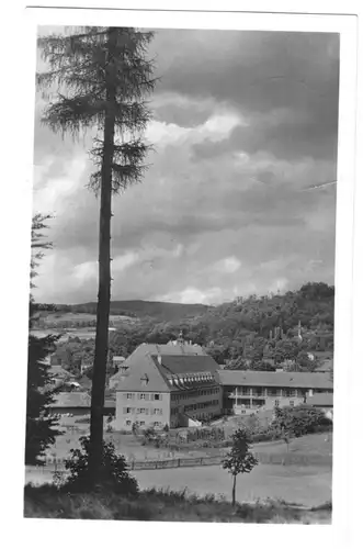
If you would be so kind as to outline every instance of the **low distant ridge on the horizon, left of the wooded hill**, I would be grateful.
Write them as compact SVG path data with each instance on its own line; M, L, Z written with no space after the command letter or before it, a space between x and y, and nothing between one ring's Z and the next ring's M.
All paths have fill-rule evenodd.
M72 313L95 314L97 303L78 305L57 305L57 309ZM112 301L110 312L113 315L124 315L138 318L155 318L158 322L177 322L205 314L212 307L200 303L167 303L160 301Z

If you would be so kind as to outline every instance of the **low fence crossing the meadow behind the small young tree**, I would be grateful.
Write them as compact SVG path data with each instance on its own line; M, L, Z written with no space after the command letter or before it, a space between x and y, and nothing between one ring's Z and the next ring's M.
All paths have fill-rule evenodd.
M269 453L254 452L259 462L270 466L326 466L331 467L331 456L322 456L319 453ZM128 461L128 467L132 471L152 470L152 469L177 469L180 467L205 467L218 466L222 463L224 456L204 456L201 458L175 458L165 460L144 460ZM44 466L39 466L41 471L64 471L65 460L61 458L48 458Z

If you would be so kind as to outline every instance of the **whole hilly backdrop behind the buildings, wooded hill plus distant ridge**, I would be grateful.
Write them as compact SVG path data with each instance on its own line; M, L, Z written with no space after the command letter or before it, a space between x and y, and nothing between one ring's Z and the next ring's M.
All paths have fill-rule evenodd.
M86 309L91 311L93 306L93 303L77 305L84 307L83 312ZM121 321L116 330L110 334L111 352L125 357L145 341L167 344L175 339L180 330L185 340L205 346L219 363L241 356L261 360L268 344L275 347L275 354L281 355L281 359L294 358L303 349L317 350L321 346L327 350L333 349L334 288L325 283L308 283L298 291L285 294L250 295L215 307L120 301L112 303L112 311L117 314L133 313L138 318L137 322ZM298 323L303 346L295 345ZM272 332L274 337L276 329L280 336L283 334L283 339L279 336L280 343L276 338L271 343L270 334ZM71 345L77 347L79 360L83 357L92 363L94 341Z

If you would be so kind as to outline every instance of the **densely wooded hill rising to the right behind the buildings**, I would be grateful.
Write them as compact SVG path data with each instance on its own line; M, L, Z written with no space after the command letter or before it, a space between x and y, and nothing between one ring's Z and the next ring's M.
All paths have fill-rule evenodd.
M325 283L308 283L296 292L237 299L215 307L207 307L193 317L143 322L135 326L120 326L112 336L117 352L128 355L143 341L165 344L178 337L198 345L219 347L229 357L238 356L247 341L268 341L270 332L280 328L290 338L297 334L300 323L305 340L314 348L320 335L333 345L334 288Z

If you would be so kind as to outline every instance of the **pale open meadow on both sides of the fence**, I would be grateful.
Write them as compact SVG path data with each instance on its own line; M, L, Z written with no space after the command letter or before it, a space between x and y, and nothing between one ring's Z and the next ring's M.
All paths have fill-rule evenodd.
M78 438L87 434L88 427L82 427L83 433L67 434L57 438L57 457L66 457L70 448L78 446ZM168 449L145 447L139 444L133 435L106 434L106 440L113 440L116 450L134 460L163 460L171 457L195 457L205 456L206 450L213 453L213 449L203 451L184 451L170 455ZM320 453L327 457L327 464L319 467L304 466L277 466L260 463L250 474L241 475L237 483L237 498L240 502L250 502L256 498L282 498L304 505L320 505L330 500L331 496L331 457L332 435L316 434L295 439L290 445L290 451L296 453ZM261 442L253 446L259 452L284 452L284 442ZM230 495L230 477L220 466L162 469L133 471L140 483L141 489L166 489L184 490L188 488L193 493L205 495L208 493ZM26 482L44 483L52 482L53 472L39 472L29 469Z

